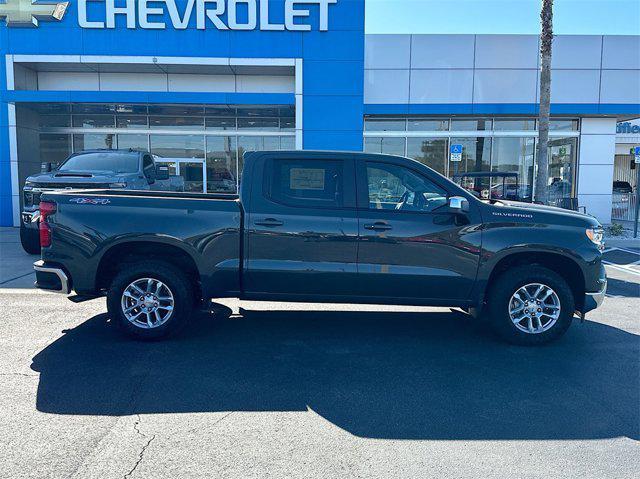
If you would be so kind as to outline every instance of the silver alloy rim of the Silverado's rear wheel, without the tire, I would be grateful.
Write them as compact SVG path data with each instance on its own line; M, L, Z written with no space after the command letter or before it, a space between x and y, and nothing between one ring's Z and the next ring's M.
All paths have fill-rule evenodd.
M127 320L142 329L166 323L173 314L174 299L169 287L155 278L140 278L129 284L120 300Z

